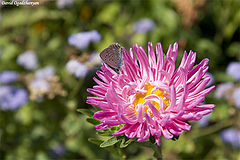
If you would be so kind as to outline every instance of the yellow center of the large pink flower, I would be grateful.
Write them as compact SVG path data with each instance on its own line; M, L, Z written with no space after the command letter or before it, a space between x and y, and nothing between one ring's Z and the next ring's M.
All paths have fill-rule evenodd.
M135 100L134 100L134 102L133 102L133 104L134 104L134 109L135 109L135 110L136 110L136 106L137 106L138 104L140 104L140 103L143 104L143 103L145 102L144 98L145 98L146 96L148 96L148 95L151 95L151 94L155 94L155 95L157 95L158 97L162 98L162 100L163 100L163 109L164 109L164 110L169 106L170 100L167 98L167 92L166 92L165 90L162 91L162 90L157 89L156 91L154 91L153 93L151 93L153 88L154 88L154 86L151 86L149 83L146 83L144 89L145 89L147 92L146 92L146 93L136 93L136 98L135 98ZM159 105L158 102L152 101L151 103L154 105L155 108L158 109L158 111L160 111L160 105ZM147 105L147 106L143 109L143 113L144 113L144 112L147 112L148 108L149 108L149 106Z

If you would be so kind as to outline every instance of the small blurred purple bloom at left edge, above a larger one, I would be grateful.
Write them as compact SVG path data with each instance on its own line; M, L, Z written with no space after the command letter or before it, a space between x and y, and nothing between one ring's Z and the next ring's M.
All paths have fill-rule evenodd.
M3 71L0 73L0 83L6 84L15 82L18 79L18 73L15 71Z

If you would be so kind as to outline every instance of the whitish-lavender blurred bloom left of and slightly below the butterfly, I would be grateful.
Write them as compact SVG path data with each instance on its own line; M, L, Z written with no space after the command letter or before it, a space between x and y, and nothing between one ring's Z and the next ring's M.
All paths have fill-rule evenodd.
M80 63L77 60L68 61L66 68L69 73L74 74L78 78L86 76L86 74L88 72L87 66Z

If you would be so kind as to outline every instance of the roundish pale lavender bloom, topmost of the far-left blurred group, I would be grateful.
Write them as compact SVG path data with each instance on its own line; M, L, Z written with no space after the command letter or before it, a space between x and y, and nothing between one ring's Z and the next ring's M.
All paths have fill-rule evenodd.
M38 61L34 51L26 51L17 57L17 63L27 70L33 70L37 67Z

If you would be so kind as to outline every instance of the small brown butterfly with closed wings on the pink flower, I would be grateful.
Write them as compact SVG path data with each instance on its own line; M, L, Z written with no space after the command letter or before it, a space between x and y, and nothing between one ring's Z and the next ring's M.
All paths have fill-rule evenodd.
M123 48L120 44L113 43L100 53L100 57L104 63L119 70L122 67L122 54Z

